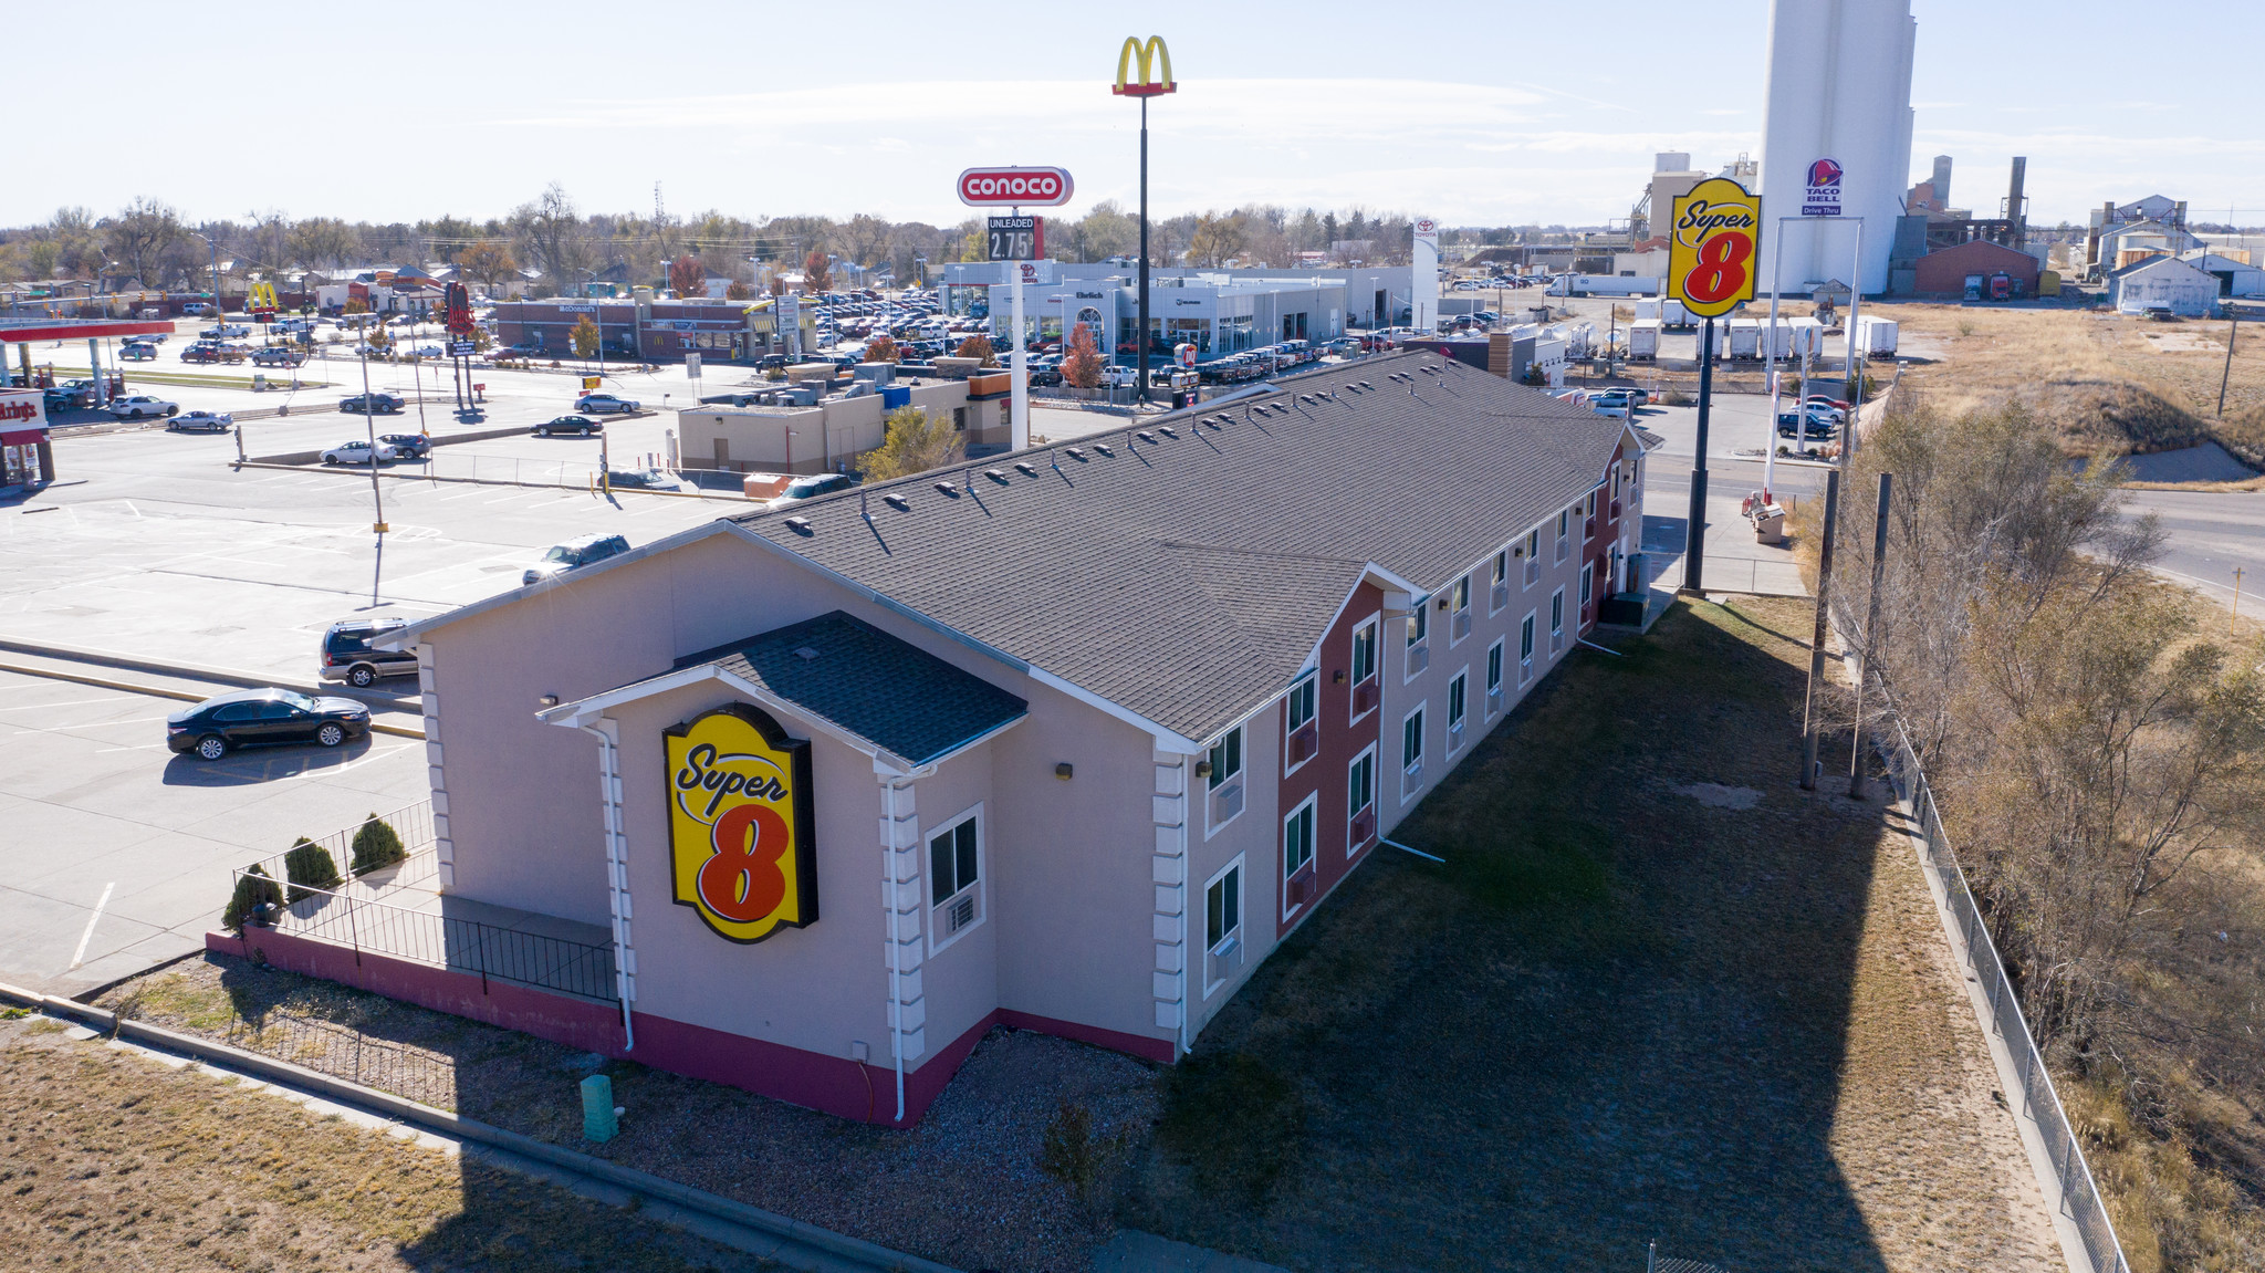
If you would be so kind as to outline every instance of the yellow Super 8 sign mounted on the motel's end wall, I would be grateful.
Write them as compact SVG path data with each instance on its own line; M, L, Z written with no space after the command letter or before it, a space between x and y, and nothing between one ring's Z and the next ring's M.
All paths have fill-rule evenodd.
M734 942L818 922L811 743L734 702L668 729L677 906Z

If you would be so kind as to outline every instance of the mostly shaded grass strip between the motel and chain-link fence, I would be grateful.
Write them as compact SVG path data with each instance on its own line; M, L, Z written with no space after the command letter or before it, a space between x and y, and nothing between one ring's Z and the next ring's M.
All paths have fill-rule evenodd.
M1395 831L1450 865L1370 863L1169 1076L1128 1223L1300 1271L2061 1268L1907 843L1792 781L1807 623L1678 607L1565 668Z

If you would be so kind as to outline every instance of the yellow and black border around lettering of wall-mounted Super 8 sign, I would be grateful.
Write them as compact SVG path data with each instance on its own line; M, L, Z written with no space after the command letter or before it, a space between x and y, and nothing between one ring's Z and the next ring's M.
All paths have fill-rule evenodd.
M786 881L786 897L779 906L763 915L761 920L738 922L727 920L711 911L700 899L700 868L716 856L711 840L711 822L702 822L686 813L677 804L680 775L689 761L689 754L704 741L695 741L700 727L718 716L729 718L738 725L752 729L759 738L763 752L752 752L781 775L786 775L784 804L790 813L786 829L793 843L784 854L779 854L781 865L790 872ZM670 725L661 734L661 795L668 804L668 881L670 899L677 906L691 906L700 913L707 926L729 942L754 945L779 929L809 929L818 922L818 815L811 800L811 741L790 738L768 711L747 702L727 702L723 707L702 711L691 720ZM781 802L766 802L779 806ZM689 843L686 843L689 840Z

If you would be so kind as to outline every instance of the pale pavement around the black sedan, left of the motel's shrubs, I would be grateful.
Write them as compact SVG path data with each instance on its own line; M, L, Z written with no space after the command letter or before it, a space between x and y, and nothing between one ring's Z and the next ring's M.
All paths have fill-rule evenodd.
M77 994L202 949L233 868L428 795L414 738L206 763L165 750L179 707L0 673L0 981Z

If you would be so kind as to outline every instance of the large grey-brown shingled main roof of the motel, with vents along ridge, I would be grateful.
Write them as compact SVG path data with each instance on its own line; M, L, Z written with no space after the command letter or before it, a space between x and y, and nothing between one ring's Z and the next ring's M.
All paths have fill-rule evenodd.
M1624 428L1398 353L732 521L1200 741L1298 675L1370 566L1447 584L1595 489Z

